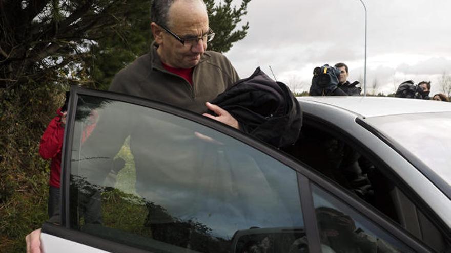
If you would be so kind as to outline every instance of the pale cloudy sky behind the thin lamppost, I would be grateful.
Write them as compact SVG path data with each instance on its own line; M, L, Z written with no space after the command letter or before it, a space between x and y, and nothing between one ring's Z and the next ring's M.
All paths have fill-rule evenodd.
M451 74L451 1L363 0L367 8L366 89L393 93L405 80ZM239 0L236 0L240 3ZM292 89L308 90L315 66L344 62L363 80L365 14L359 0L252 0L248 36L226 53L241 78L257 66ZM363 84L362 84L363 89Z

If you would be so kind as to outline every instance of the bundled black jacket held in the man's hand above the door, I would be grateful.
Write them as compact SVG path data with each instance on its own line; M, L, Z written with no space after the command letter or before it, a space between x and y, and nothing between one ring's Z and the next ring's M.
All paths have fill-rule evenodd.
M244 132L277 148L291 145L299 137L302 111L298 101L285 84L273 81L259 67L212 103L227 110Z

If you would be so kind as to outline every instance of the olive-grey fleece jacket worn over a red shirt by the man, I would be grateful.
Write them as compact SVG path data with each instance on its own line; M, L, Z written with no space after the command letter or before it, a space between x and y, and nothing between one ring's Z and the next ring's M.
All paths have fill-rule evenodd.
M206 51L194 67L193 85L163 67L157 46L116 74L109 90L171 104L197 113L239 80L230 61L220 53Z

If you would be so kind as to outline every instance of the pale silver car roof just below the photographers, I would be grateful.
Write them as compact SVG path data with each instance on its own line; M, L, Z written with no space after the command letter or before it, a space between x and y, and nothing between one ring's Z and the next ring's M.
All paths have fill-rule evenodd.
M450 102L393 97L297 97L301 103L317 103L342 108L364 118L406 113L451 112Z

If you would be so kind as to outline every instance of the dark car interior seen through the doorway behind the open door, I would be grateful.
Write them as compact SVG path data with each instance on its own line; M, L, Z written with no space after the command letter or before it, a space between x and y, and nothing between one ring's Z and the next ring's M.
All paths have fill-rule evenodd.
M388 173L390 168L375 166L351 146L349 138L340 137L337 132L308 124L301 131L296 144L285 152L373 205L429 247L439 252L451 247L444 234Z

